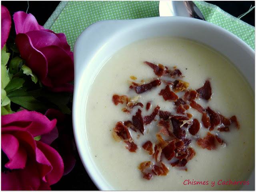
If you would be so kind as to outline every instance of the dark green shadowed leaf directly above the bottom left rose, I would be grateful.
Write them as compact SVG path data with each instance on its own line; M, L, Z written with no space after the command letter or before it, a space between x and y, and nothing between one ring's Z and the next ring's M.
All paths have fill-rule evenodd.
M15 96L9 97L13 103L21 105L30 111L46 111L46 105L38 101L33 96Z

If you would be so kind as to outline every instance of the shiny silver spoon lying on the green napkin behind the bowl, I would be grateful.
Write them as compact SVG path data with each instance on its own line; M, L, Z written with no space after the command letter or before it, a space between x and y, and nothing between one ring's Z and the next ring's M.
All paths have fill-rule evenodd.
M205 20L193 1L160 1L160 16L183 16Z

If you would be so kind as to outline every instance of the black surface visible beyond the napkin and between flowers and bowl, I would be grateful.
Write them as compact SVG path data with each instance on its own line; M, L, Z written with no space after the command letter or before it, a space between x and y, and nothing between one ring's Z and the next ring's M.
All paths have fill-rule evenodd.
M238 17L241 14L249 10L250 6L254 6L254 1L206 1L211 4L219 6L222 10L228 12L229 14ZM55 8L58 6L60 1L29 1L29 8L27 1L2 1L1 4L6 6L13 15L16 11L26 12L28 8L28 13L33 14L40 25L44 23L54 12ZM255 26L255 9L249 14L241 18L244 22ZM76 154L76 166L74 169L57 183L52 185L52 190L98 190L94 185L82 162Z

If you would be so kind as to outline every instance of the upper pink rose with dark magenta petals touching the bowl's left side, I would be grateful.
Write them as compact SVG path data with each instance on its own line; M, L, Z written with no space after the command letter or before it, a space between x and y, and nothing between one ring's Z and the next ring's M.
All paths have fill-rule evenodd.
M52 91L73 91L73 52L65 34L56 34L40 26L32 14L19 11L13 17L15 43L26 64Z

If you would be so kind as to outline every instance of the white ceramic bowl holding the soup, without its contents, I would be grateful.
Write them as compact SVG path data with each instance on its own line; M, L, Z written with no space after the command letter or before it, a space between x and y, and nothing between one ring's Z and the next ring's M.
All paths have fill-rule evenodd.
M86 134L84 112L90 86L102 65L116 51L137 40L160 36L188 38L216 49L236 65L254 90L255 52L238 37L219 26L185 17L108 20L92 24L82 32L74 46L73 127L80 158L100 190L115 189L100 174L88 146L87 137L90 135ZM254 190L254 176L253 171L249 188L245 186L243 190Z

